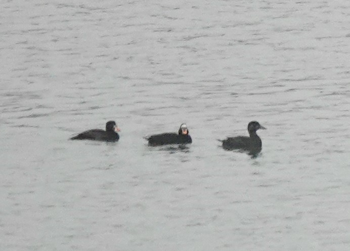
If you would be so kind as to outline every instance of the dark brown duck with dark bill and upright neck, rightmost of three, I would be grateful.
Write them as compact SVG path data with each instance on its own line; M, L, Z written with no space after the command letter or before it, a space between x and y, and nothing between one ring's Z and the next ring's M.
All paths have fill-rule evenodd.
M261 126L257 121L250 121L248 123L247 136L228 137L226 140L220 140L223 143L225 150L243 150L247 151L249 155L256 155L261 151L262 144L261 139L256 134L259 129L266 130L265 127Z

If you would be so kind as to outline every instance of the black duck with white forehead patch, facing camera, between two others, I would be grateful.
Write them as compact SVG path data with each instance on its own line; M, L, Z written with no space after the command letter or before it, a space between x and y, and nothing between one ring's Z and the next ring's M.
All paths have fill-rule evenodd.
M191 144L192 138L189 135L189 130L186 123L182 123L179 132L176 133L163 133L151 135L145 138L148 141L149 146L162 146L169 144Z

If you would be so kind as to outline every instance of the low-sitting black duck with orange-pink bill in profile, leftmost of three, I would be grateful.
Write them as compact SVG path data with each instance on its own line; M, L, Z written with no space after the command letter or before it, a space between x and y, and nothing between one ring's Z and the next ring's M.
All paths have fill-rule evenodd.
M111 120L106 123L106 131L101 129L92 129L89 131L82 132L70 139L116 142L119 140L118 132L120 132L120 129L118 128L115 121Z

